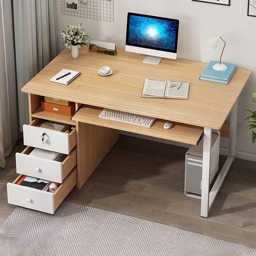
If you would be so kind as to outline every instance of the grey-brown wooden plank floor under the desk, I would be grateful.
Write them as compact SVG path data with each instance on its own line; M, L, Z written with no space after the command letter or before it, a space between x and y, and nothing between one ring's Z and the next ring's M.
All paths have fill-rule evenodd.
M0 222L15 209L7 204L6 183L16 178L15 152L0 169ZM186 197L187 148L120 136L86 184L68 201L164 223L256 248L256 164L236 159L210 211L200 217L200 200ZM220 156L220 166L225 161Z

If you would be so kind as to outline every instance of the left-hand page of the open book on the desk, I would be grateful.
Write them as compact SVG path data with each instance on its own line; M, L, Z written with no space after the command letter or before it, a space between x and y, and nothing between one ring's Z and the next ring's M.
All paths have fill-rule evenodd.
M164 97L165 87L166 81L146 78L142 93L150 96Z

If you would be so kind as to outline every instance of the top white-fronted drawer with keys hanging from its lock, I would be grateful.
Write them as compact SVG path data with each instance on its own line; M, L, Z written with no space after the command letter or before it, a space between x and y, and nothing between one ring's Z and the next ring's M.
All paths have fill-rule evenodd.
M39 122L40 119L34 119L29 125L23 124L24 145L67 155L76 146L76 128L70 133L64 133L37 127ZM41 139L43 133L46 134L46 143L43 143Z

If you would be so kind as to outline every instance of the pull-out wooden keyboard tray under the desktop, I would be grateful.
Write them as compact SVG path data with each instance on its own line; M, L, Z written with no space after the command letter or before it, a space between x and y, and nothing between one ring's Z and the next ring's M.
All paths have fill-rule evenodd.
M148 128L139 125L127 124L109 119L99 118L98 116L102 110L103 108L84 105L76 112L76 114L72 117L72 120L87 124L105 126L108 128L113 128L126 132L140 133L166 140L174 140L178 142L188 143L191 145L197 145L204 132L203 127L175 122L172 122L173 125L171 129L165 130L164 123L167 121L162 119L156 119L154 124L150 128Z

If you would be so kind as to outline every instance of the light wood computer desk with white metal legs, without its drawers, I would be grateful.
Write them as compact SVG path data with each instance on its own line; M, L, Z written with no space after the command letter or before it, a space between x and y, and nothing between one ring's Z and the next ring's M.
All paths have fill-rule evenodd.
M118 49L116 56L79 50L72 59L70 49L62 51L23 88L28 93L30 121L44 118L76 124L77 188L81 188L119 137L119 130L196 145L204 135L201 216L208 212L235 159L237 99L251 71L240 69L228 85L199 80L207 63L194 60L163 59L159 65L142 63L145 55ZM113 70L100 76L100 66ZM82 74L68 86L49 80L62 68ZM188 81L189 99L141 98L145 78ZM42 111L42 96L76 102L76 114L70 117ZM84 105L83 105L84 104ZM98 118L103 108L156 117L151 128ZM230 114L229 124L224 124ZM166 121L170 130L164 130ZM227 129L228 128L228 129ZM228 158L210 190L210 153L212 129L229 135ZM225 131L224 131L225 130ZM224 135L225 136L225 135Z

